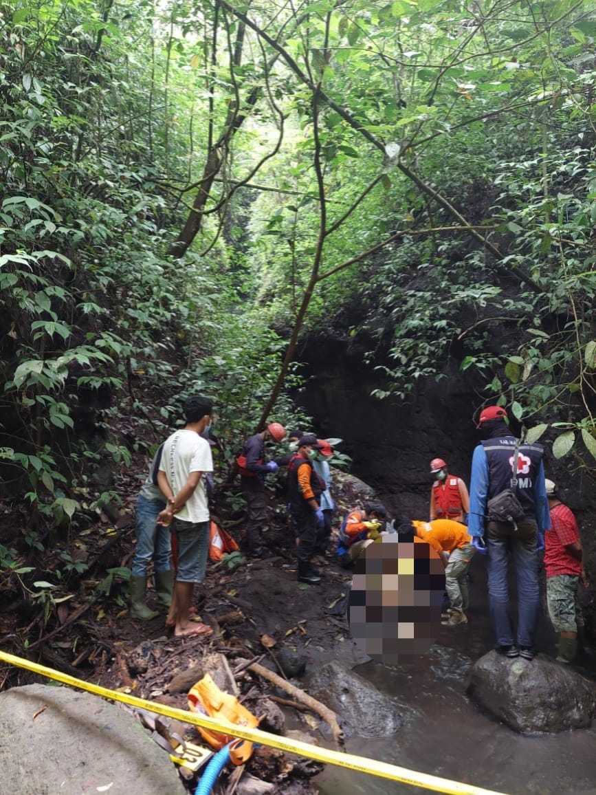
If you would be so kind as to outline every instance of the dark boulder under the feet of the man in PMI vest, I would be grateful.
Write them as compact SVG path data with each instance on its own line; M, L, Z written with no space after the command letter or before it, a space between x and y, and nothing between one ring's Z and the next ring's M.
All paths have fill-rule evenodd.
M472 667L467 692L522 734L587 728L596 705L589 681L542 654L528 662L490 651Z

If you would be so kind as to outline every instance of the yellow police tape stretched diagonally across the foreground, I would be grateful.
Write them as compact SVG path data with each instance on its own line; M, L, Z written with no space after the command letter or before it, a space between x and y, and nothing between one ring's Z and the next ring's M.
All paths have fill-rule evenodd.
M9 665L16 665L17 668L24 668L32 673L38 673L41 677L48 677L48 679L68 684L69 687L86 690L95 696L121 701L122 704L129 704L130 707L157 712L158 715L165 715L168 718L180 720L184 723L192 723L193 726L225 732L226 735L234 735L235 737L250 740L252 743L261 743L261 745L287 751L289 754L299 754L309 759L315 759L317 762L346 767L348 770L356 770L358 773L366 773L379 778L389 778L391 781L401 781L402 784L432 789L434 792L448 793L448 795L503 795L503 793L496 793L492 789L482 789L482 787L474 787L471 784L461 784L459 781L449 781L447 778L417 773L415 770L389 765L387 762L377 762L376 759L319 748L310 743L301 743L299 740L289 739L288 737L270 735L269 732L261 731L261 729L237 726L234 723L228 723L226 720L168 707L166 704L157 704L155 701L147 701L143 698L137 698L137 696L129 696L127 693L103 688L99 684L85 682L82 679L69 676L68 673L60 673L60 671L55 671L52 668L46 668L45 665L38 665L37 662L31 662L23 657L16 657L14 654L8 654L3 651L0 651L0 661Z

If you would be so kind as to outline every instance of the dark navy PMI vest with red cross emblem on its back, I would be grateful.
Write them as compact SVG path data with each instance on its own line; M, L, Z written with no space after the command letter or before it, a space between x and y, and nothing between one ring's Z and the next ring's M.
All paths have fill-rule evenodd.
M534 483L538 476L544 448L540 444L521 444L517 456L517 485L513 486L515 436L497 436L482 442L489 463L489 494L492 499L505 489L512 489L527 516L534 515Z

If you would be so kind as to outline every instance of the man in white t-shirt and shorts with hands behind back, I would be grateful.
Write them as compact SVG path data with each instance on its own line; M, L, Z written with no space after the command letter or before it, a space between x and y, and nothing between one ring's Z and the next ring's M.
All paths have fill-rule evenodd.
M173 502L159 514L157 522L172 524L172 541L178 551L176 585L168 625L177 637L211 634L211 627L192 623L188 611L195 583L202 583L209 552L209 506L203 475L213 471L211 447L199 434L211 425L213 404L208 397L195 395L184 404L186 425L164 442L157 483L168 486ZM163 485L162 485L163 484Z

